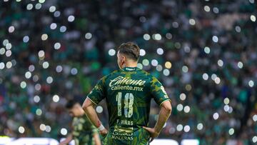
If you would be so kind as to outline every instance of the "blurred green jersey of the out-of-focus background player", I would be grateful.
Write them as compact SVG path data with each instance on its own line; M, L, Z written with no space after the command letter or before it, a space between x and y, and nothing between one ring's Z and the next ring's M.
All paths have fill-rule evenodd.
M76 145L94 145L93 134L97 133L97 129L86 115L74 117L72 126L72 136Z

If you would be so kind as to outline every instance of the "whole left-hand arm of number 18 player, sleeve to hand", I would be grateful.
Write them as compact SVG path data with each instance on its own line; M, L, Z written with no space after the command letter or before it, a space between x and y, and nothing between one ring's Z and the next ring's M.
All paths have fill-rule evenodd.
M82 106L86 113L86 116L88 116L91 123L99 129L100 134L103 136L105 136L108 131L104 128L103 124L101 124L101 121L96 114L95 106L99 104L102 99L104 99L104 79L105 77L102 78L96 84L96 86L94 86L94 89L86 97L86 100L84 101L84 104Z

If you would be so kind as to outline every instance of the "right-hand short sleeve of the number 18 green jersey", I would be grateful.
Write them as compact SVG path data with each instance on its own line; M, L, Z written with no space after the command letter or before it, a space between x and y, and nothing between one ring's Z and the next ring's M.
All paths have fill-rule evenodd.
M152 76L150 84L151 96L159 106L161 106L161 104L163 104L164 101L171 101L171 99L168 98L168 95L163 85L160 81L158 81L158 79L156 79L156 77Z

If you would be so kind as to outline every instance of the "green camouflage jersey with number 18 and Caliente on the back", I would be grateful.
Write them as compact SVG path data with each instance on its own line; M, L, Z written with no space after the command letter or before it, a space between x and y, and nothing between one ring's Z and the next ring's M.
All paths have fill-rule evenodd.
M138 68L126 67L104 76L87 96L94 104L106 99L109 133L104 144L148 144L151 99L170 101L160 81Z

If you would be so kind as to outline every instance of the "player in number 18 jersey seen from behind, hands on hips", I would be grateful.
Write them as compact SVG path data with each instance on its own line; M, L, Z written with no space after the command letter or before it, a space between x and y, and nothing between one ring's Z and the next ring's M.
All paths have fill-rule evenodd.
M171 100L160 81L137 68L139 51L132 42L121 44L117 53L120 69L104 76L82 106L100 134L106 135L104 144L148 144L160 134L171 114ZM152 98L161 106L161 111L156 125L149 128ZM109 131L94 109L102 99L106 99L109 112Z

